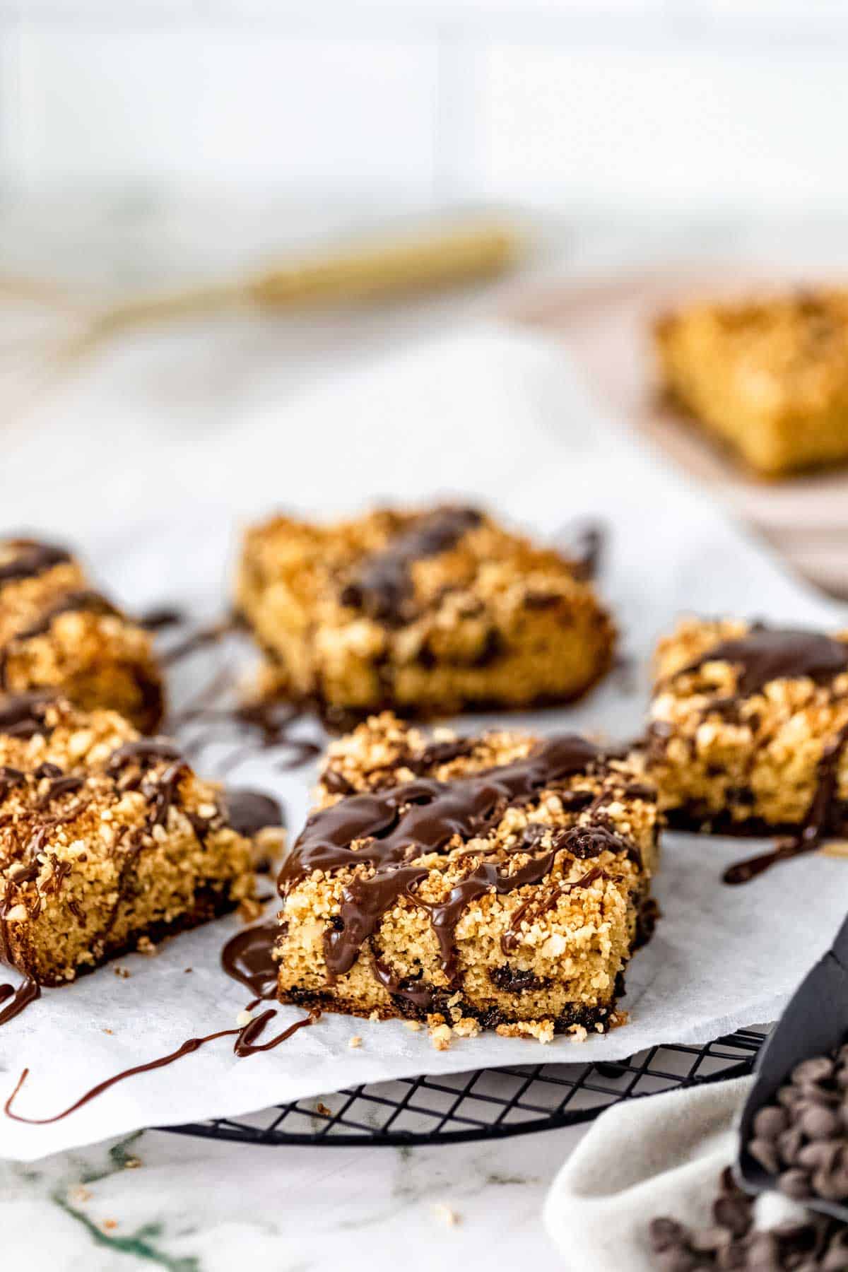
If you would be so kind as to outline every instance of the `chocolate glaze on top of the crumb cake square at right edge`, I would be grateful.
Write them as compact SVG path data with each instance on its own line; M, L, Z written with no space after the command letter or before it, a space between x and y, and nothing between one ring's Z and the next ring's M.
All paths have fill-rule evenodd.
M739 667L737 695L750 697L772 681L800 677L810 677L817 683L833 681L842 672L848 672L848 644L821 632L756 625L746 636L713 645L674 675L697 672L704 663Z

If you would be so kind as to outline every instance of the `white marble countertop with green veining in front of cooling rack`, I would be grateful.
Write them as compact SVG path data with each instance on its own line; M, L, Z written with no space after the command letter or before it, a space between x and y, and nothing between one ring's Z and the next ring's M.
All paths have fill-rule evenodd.
M4 1255L55 1272L538 1267L556 1258L542 1203L582 1133L272 1149L145 1131L0 1163Z

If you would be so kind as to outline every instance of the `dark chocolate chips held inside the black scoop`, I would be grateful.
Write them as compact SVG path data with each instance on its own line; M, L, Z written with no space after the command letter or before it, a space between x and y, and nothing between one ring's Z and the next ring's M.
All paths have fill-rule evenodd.
M848 1201L848 1044L796 1065L754 1118L748 1151L795 1201Z

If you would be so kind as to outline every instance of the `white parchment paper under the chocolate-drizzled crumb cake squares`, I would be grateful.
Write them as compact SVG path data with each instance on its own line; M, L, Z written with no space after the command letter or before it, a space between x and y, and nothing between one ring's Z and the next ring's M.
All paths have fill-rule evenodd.
M183 445L174 439L174 454ZM647 658L683 611L845 622L844 609L790 577L699 491L642 453L619 422L604 418L559 350L505 328L479 327L411 349L303 393L285 411L259 402L238 431L217 440L209 463L230 474L228 505L187 494L178 515L172 504L145 525L118 524L84 544L95 572L127 605L188 598L198 614L217 612L239 522L280 505L325 514L379 497L458 492L547 536L575 516L600 515L610 528L601 588L638 674L612 675L568 711L519 719L540 731L636 735ZM149 474L140 471L139 480ZM206 655L181 668L174 697L184 700L207 672ZM216 758L209 754L210 768ZM271 758L252 758L233 781L277 794L296 833L314 770L282 773ZM755 845L666 836L656 884L664 917L628 972L622 1006L631 1023L608 1037L543 1048L486 1034L436 1052L426 1032L399 1021L325 1015L249 1060L236 1060L233 1040L219 1039L169 1068L118 1084L52 1126L0 1116L0 1155L28 1160L144 1126L243 1114L414 1074L615 1060L772 1019L844 915L848 864L801 859L746 887L722 885L725 866L749 851ZM164 943L156 957L122 959L128 978L107 965L69 988L44 991L0 1030L0 1102L28 1066L17 1108L50 1116L118 1070L234 1027L248 995L222 974L219 951L238 926L221 920ZM281 1007L275 1024L300 1015ZM357 1049L348 1047L353 1034L362 1039Z

